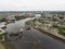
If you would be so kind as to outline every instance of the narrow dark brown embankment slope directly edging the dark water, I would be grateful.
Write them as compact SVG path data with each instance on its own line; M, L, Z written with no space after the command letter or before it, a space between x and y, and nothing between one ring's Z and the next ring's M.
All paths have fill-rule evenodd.
M57 39L57 40L61 40L62 42L65 42L65 38L61 38L60 36L56 36L56 35L54 35L54 34L52 34L50 32L47 32L47 30L42 29L41 27L34 27L34 28L40 30L43 34L47 34L47 35L51 36L54 39Z

